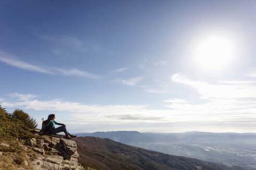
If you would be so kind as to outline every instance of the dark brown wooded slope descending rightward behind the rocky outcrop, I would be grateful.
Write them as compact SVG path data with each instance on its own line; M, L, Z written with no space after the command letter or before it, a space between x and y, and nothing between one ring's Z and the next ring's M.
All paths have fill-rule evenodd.
M223 165L137 148L110 139L76 137L79 162L96 169L225 169Z

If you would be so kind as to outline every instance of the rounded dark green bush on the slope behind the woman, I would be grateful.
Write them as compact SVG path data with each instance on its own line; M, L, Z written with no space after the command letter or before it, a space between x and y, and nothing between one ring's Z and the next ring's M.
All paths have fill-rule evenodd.
M27 113L25 113L23 110L16 109L12 113L12 117L21 120L24 122L24 124L29 128L29 129L34 129L37 126L36 120L31 118Z

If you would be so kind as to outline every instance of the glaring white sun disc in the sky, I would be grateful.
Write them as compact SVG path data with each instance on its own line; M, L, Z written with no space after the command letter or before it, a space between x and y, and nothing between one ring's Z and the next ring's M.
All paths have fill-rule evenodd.
M209 36L195 47L195 62L204 70L220 70L227 67L234 56L232 40L221 36Z

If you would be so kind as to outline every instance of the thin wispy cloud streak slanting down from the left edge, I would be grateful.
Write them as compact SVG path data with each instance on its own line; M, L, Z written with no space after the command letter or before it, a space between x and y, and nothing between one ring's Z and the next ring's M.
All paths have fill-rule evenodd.
M96 76L88 72L84 72L76 68L63 69L63 68L57 68L57 67L42 67L42 66L32 65L23 61L19 61L15 59L14 56L3 53L1 51L0 51L0 61L21 69L30 70L32 72L40 72L40 73L52 74L52 75L80 76L80 77L93 78L93 79L99 78L99 76Z

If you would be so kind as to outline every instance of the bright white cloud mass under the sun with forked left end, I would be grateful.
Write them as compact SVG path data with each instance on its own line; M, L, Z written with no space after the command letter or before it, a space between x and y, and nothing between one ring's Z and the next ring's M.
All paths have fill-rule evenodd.
M182 84L184 88L187 86L195 89L201 99L206 99L197 104L177 98L164 101L171 103L166 107L172 109L172 112L187 115L186 119L227 122L256 120L256 86L250 81L220 81L211 84L180 74L173 75L171 80Z

